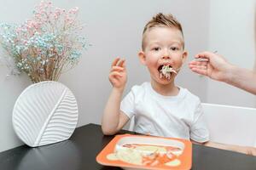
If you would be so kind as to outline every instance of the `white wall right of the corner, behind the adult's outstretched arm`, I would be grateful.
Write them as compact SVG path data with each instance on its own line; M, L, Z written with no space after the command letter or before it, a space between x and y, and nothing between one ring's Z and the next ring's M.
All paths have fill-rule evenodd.
M255 0L211 0L209 50L218 50L234 65L255 63ZM207 102L255 107L256 98L241 89L209 80Z

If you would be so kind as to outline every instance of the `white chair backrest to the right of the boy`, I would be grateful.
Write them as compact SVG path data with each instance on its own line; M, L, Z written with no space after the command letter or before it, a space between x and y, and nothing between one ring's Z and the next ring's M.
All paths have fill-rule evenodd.
M256 109L202 103L210 140L256 147Z

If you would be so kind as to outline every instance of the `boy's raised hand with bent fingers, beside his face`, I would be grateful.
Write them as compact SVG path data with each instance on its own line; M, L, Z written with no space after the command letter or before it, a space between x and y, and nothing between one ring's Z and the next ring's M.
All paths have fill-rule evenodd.
M117 88L119 90L125 89L125 83L127 81L125 59L120 59L118 57L113 60L108 79L111 82L113 88Z

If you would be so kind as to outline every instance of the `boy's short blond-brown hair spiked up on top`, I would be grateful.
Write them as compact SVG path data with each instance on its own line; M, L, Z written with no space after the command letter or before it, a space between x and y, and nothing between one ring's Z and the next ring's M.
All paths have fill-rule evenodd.
M147 31L149 31L151 28L154 28L154 27L176 28L177 30L181 31L183 36L183 28L172 14L162 14L162 13L155 14L154 17L148 21L146 26L144 26L143 42L142 42L143 49L145 48L144 47L145 34ZM184 48L184 42L183 42L183 48Z

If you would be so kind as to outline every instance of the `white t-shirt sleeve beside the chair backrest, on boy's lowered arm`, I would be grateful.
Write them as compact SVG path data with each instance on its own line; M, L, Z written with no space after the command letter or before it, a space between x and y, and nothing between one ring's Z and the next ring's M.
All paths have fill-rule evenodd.
M204 118L200 100L198 100L195 107L194 120L190 127L190 139L199 143L209 141L209 130Z

